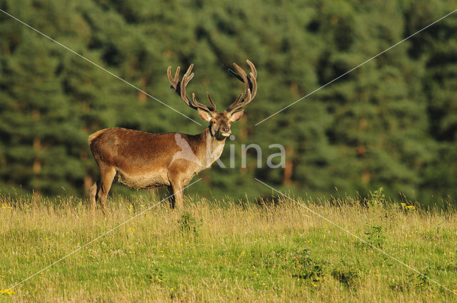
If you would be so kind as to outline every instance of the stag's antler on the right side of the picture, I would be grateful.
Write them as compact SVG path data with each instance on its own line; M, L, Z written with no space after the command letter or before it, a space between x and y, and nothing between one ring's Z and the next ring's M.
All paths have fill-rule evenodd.
M230 114L235 113L236 111L240 110L244 106L247 106L251 101L253 101L253 98L256 97L257 94L257 71L256 67L253 65L253 63L249 60L246 60L248 65L251 67L251 73L249 73L249 78L248 75L246 74L245 71L243 71L243 68L239 67L236 65L236 63L233 63L233 67L236 69L238 73L235 73L231 69L229 69L229 72L233 74L233 76L236 76L236 78L240 79L243 81L246 85L246 89L244 91L244 94L241 93L238 98L236 98L235 102L233 102L228 108L227 112Z

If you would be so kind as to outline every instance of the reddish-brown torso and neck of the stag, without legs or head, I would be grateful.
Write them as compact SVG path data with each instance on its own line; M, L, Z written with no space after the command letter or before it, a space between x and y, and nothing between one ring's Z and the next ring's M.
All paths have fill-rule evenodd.
M179 146L177 138L186 142L191 149L190 155L180 157L180 152L187 153L188 150ZM97 163L114 168L120 183L136 189L171 186L170 179L178 177L176 175L184 183L189 183L194 175L221 156L224 143L225 138L211 138L207 129L199 135L187 135L106 128L89 136L89 146ZM220 152L212 155L208 161L206 155L209 150ZM196 159L192 159L192 155Z

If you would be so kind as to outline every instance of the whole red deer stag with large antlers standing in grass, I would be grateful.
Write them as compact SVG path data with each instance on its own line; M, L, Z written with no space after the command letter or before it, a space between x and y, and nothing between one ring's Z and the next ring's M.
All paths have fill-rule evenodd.
M173 192L170 199L171 207L184 207L183 189L191 178L205 168L209 168L222 153L226 138L231 134L231 123L238 121L243 115L243 107L251 103L256 96L256 68L251 67L249 77L242 68L233 63L238 79L246 88L236 101L220 112L216 104L206 93L211 107L205 106L186 94L186 86L194 77L191 73L194 64L179 81L179 67L175 76L171 76L171 67L167 74L171 88L179 94L190 108L195 109L202 120L209 122L209 127L198 135L184 133L146 133L126 128L106 128L89 136L89 146L99 165L100 182L94 183L89 190L90 204L94 209L96 199L101 202L101 210L105 212L106 197L118 175L119 182L130 188L159 188L167 186Z

